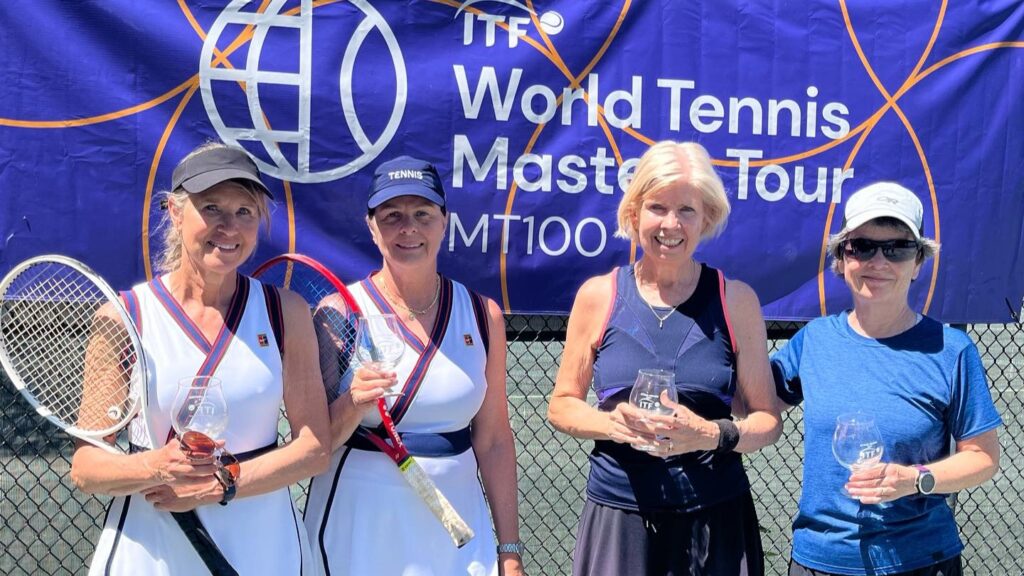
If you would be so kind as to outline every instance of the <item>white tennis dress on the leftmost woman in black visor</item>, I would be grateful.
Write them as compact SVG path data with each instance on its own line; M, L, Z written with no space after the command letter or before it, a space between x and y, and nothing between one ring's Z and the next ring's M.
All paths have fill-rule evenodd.
M283 398L281 353L260 283L240 276L239 286L243 285L248 287L248 296L238 328L233 335L223 330L215 342L207 342L173 298L168 299L161 279L133 288L142 346L155 381L150 416L158 436L156 445L164 445L171 429L178 380L195 376L204 363L216 363L217 358L221 360L213 375L221 380L229 416L222 436L225 447L241 454L276 443ZM133 444L150 446L143 427L134 424ZM236 498L226 506L200 506L196 512L240 575L314 573L305 531L288 488ZM169 512L158 511L137 494L114 499L90 576L208 573Z

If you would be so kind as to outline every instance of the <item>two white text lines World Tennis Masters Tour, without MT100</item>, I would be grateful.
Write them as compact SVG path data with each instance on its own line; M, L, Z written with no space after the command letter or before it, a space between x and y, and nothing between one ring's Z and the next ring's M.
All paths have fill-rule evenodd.
M597 74L590 74L580 88L564 88L556 92L545 84L524 85L521 69L512 69L504 77L493 67L483 67L470 78L465 67L455 65L455 81L465 117L478 120L483 115L488 122L509 122L520 117L532 124L556 122L563 126L584 121L598 126L599 107L608 125L618 129L643 130L643 77L633 76L629 89L604 94ZM850 132L847 119L850 111L842 102L818 102L818 89L809 86L804 101L754 97L722 99L701 94L693 80L658 78L656 90L668 97L668 110L658 111L658 120L668 120L672 132L688 127L711 134L726 130L729 134L746 131L753 135L792 138L839 139ZM586 95L585 95L586 93ZM659 127L658 131L664 130ZM485 181L493 177L496 189L507 191L509 176L523 192L580 194L593 190L598 194L624 191L638 162L637 158L616 160L609 151L598 147L589 157L575 154L555 158L550 154L522 154L516 158L509 152L509 139L498 135L488 142L471 142L466 134L455 134L453 141L453 186L462 188L467 180ZM800 164L763 164L754 167L752 161L764 158L761 150L727 149L726 159L736 164L735 199L760 198L778 202L793 197L803 203L839 204L843 182L853 177L853 169L840 167L807 167ZM509 167L511 166L511 171Z

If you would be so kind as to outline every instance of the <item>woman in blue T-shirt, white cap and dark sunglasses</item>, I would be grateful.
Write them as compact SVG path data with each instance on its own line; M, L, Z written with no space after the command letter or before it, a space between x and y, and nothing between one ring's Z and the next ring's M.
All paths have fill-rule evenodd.
M772 358L779 398L804 402L791 576L962 573L964 545L942 495L992 478L1001 420L971 339L908 304L910 282L938 251L923 218L899 184L853 194L828 244L853 310L810 322ZM851 413L874 422L881 464L851 471L837 461L837 420ZM869 462L878 451L862 454Z

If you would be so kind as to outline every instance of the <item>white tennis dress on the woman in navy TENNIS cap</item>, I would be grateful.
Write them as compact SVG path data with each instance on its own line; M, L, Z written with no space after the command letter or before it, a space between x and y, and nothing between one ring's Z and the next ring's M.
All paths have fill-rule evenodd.
M364 281L349 289L365 314L394 314L372 283ZM420 382L415 401L397 422L402 433L465 428L483 404L486 354L464 286L442 281L436 324L431 337L439 345L416 341L407 333L406 353L395 369L399 383L411 376ZM407 395L408 390L407 386ZM394 402L389 399L389 407ZM380 417L372 411L362 423L376 426ZM494 529L473 450L416 459L473 529L475 538L456 548L390 458L344 446L334 454L328 470L313 479L306 503L305 525L322 574L497 576Z

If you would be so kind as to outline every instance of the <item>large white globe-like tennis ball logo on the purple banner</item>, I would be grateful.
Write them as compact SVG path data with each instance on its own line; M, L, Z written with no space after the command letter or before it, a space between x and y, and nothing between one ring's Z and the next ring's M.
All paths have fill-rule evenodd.
M200 88L217 135L228 145L249 151L261 171L282 180L325 182L367 166L391 141L407 101L406 65L387 22L366 0L349 0L348 4L364 17L350 32L347 43L339 46L338 51L343 53L336 72L323 74L317 69L313 74L314 30L324 38L338 35L338 31L328 28L330 19L321 23L323 30L316 29L313 0L301 0L290 9L286 5L294 6L294 1L273 0L263 12L251 7L252 2L233 0L217 17L203 43ZM372 134L360 122L354 91L357 86L353 85L353 78L366 79L353 71L360 49L374 35L378 37L374 40L382 42L390 55L394 99L390 115L381 115L387 118L386 125ZM315 53L323 56L319 50ZM337 81L329 85L323 78ZM379 90L379 86L373 88ZM325 100L325 92L332 94L330 99ZM272 105L267 94L272 94ZM317 122L311 122L314 101L321 106L324 101L336 101L338 110L331 113L338 120L322 121L317 112ZM335 148L317 157L315 147L311 146L315 140L314 130L325 126L332 130L347 129L345 136L353 146ZM321 139L337 138L332 134Z

